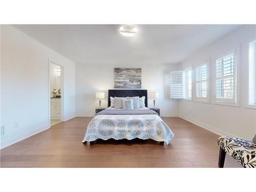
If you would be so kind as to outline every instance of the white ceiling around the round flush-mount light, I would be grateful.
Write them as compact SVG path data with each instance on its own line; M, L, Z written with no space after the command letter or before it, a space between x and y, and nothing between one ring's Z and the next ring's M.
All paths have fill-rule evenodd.
M240 25L14 25L76 63L177 63Z

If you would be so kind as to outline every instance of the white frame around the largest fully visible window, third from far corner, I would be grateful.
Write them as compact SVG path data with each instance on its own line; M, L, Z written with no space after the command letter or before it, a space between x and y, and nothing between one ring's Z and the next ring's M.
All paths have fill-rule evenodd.
M240 47L240 46L239 46ZM225 51L222 52L221 54L217 55L212 59L212 65L213 65L213 96L212 96L212 104L220 104L220 105L229 105L229 106L240 106L240 82L239 82L239 59L240 59L240 49L239 47L234 48L230 51ZM222 77L217 77L217 72L216 72L216 61L217 59L223 58L227 55L233 54L233 75L228 75L228 76L222 76ZM234 97L232 99L229 98L217 98L217 84L216 81L218 79L226 79L233 77L233 94Z

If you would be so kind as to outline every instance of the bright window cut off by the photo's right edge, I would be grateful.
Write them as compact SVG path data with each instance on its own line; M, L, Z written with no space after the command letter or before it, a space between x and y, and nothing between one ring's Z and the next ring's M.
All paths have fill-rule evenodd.
M249 105L256 107L256 40L249 44Z

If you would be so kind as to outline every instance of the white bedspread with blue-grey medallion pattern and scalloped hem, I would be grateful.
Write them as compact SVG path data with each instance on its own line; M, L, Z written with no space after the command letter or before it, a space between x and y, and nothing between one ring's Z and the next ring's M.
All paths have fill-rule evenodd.
M140 138L169 144L173 137L173 132L158 115L97 115L90 121L82 142Z

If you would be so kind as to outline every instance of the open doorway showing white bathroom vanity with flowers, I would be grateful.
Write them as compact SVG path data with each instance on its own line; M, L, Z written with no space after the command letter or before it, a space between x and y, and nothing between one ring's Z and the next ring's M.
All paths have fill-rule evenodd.
M50 125L62 121L62 72L63 67L49 61Z

